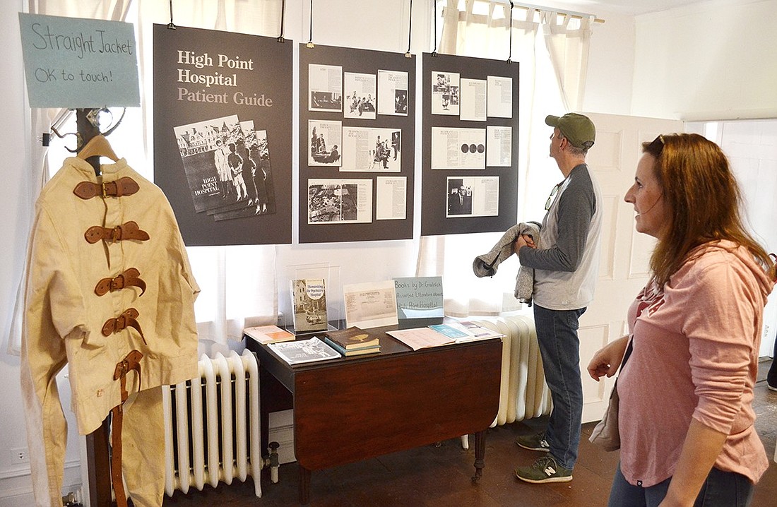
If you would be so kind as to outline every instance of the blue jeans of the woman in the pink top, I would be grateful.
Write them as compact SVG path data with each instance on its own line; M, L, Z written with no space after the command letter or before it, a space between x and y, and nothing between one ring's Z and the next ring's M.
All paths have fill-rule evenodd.
M633 486L621 473L621 464L615 470L608 507L654 507L664 500L669 489L669 477L650 488ZM709 471L694 507L747 507L753 497L753 483L736 472L713 468Z

